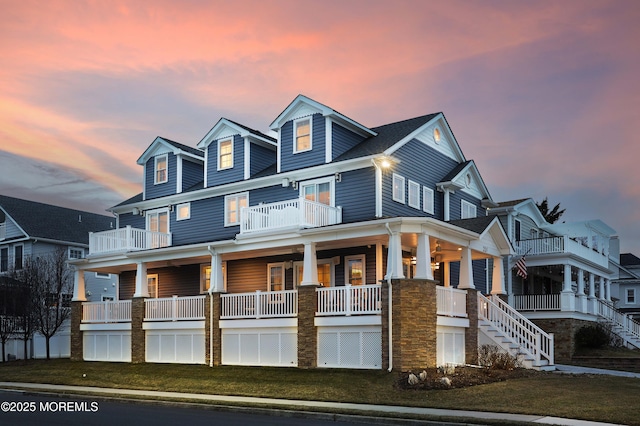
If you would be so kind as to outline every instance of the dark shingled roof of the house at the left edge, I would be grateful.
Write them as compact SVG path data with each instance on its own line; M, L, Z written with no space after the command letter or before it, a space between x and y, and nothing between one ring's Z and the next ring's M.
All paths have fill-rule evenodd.
M0 209L29 238L89 244L89 232L115 228L115 218L0 195ZM8 241L8 240L5 240Z

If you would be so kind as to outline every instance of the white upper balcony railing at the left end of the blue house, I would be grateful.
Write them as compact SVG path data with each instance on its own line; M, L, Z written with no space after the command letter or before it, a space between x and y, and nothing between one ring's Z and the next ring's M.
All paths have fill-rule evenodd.
M126 228L89 233L89 254L149 250L171 246L171 234Z

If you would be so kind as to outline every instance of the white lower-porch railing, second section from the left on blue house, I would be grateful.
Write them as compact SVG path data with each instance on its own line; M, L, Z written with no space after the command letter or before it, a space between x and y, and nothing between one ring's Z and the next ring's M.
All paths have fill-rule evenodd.
M205 296L145 299L145 321L203 320Z

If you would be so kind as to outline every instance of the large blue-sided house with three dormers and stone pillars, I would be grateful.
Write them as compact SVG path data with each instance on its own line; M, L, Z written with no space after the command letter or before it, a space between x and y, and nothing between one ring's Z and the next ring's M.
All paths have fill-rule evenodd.
M442 113L369 128L300 95L270 130L145 150L142 192L73 262L72 359L406 370L477 363L479 324L509 323L553 364L498 298L514 251ZM118 300L87 301L89 272Z

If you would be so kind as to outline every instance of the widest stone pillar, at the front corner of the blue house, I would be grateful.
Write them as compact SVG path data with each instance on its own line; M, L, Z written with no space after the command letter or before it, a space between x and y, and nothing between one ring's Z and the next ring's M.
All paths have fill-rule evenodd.
M436 281L399 279L391 282L391 330L389 291L382 285L382 361L397 371L435 367L437 363ZM391 333L391 355L389 354Z

